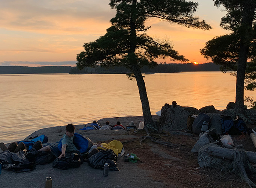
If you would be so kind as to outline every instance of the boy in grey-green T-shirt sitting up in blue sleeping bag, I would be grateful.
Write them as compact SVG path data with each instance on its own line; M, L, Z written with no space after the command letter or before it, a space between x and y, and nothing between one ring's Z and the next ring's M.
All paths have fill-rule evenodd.
M59 141L58 149L61 151L59 158L65 157L66 153L79 150L80 153L86 153L93 146L92 141L78 133L75 133L75 126L67 124L66 134Z

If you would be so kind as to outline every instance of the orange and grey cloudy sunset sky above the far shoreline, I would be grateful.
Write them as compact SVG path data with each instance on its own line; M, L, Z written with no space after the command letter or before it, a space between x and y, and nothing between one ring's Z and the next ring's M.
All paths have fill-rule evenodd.
M148 35L168 38L187 59L209 62L200 49L214 36L229 31L219 22L225 11L212 0L195 0L195 15L213 29L188 29L158 19L150 19ZM106 33L115 10L108 0L0 0L0 66L2 65L72 65L84 42L94 41ZM163 61L170 62L168 59ZM177 62L178 63L178 62Z

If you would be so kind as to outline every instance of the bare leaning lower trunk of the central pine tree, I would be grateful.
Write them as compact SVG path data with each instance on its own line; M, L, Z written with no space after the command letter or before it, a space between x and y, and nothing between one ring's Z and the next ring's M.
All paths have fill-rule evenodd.
M150 127L153 125L153 119L152 119L152 115L149 107L146 85L142 77L142 74L140 72L139 66L137 64L132 65L131 70L134 73L135 79L137 81L137 86L139 88L140 101L142 104L142 112L143 112L145 125Z

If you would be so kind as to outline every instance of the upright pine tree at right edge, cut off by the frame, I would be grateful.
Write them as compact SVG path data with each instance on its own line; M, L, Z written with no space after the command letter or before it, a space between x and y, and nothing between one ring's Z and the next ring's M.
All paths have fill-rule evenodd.
M256 0L214 0L216 6L224 6L227 10L221 18L221 27L232 33L217 36L206 42L201 54L211 58L216 64L222 65L222 70L236 72L236 115L244 111L244 83L247 89L254 89L255 63L255 11Z

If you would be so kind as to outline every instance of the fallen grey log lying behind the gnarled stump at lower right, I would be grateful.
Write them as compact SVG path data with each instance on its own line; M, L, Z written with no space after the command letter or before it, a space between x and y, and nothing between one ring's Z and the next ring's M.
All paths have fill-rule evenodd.
M207 147L207 153L211 156L233 159L235 150L227 149L223 147L209 146ZM256 164L256 152L245 151L249 162Z

